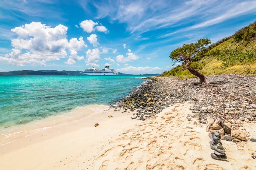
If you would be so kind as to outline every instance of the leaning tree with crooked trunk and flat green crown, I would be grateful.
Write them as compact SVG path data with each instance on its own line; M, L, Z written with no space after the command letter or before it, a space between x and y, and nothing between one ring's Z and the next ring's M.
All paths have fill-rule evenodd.
M176 60L175 62L183 62L181 65L183 70L187 69L191 74L198 77L201 83L207 83L204 75L196 71L191 64L204 55L206 46L210 43L211 41L208 38L201 38L196 43L184 44L182 47L175 49L169 57Z

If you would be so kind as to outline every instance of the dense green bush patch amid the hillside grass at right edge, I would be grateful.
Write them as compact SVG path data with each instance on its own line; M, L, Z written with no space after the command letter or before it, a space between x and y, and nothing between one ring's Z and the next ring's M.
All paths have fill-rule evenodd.
M242 52L234 49L215 50L212 52L215 54L216 59L222 62L224 67L233 65L244 65L248 62L253 62L256 59L256 51Z

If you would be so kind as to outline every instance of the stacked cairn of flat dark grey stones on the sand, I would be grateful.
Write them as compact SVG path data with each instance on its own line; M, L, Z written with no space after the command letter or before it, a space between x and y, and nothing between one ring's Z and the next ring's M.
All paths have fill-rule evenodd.
M212 158L218 160L226 160L226 150L222 146L220 134L215 130L213 134L209 133L209 137L212 139L210 141L211 149L214 150L213 153L211 153Z

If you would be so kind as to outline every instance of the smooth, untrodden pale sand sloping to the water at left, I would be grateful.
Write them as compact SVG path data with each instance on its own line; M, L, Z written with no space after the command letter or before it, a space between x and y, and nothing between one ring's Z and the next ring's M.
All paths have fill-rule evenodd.
M0 169L92 170L97 155L111 140L140 122L131 120L131 112L108 109L107 106L101 106L100 111L91 115L88 109L80 108L80 113L75 114L76 119L71 119L67 114L58 121L60 117L57 116L22 127L23 130L19 130L22 133L2 140L5 143L8 140L12 142L0 146ZM82 116L82 110L85 117ZM113 117L109 118L110 114ZM64 123L67 119L69 121ZM95 123L99 123L99 126L94 127ZM35 131L35 126L40 130ZM42 128L44 126L48 128Z

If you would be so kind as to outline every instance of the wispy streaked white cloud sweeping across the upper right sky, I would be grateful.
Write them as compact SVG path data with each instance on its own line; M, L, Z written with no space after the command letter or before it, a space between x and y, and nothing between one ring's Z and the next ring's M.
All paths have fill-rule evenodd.
M212 25L234 16L254 14L256 9L255 0L126 0L121 3L109 0L93 1L91 5L96 7L96 18L109 17L125 23L134 36L160 28Z

